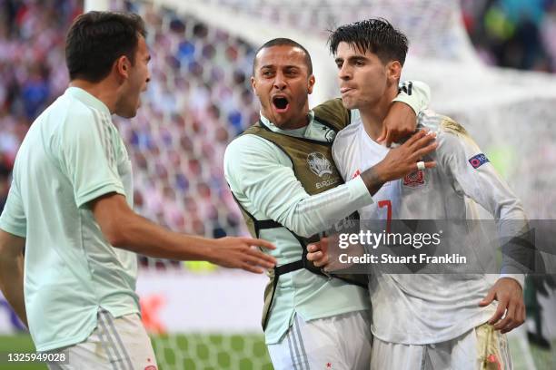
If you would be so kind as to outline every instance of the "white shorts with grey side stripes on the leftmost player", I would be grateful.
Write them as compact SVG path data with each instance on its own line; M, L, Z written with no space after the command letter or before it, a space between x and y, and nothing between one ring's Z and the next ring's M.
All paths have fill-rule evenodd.
M65 353L66 364L49 364L51 370L157 370L151 339L139 315L114 318L108 311L98 312L93 333L74 346L48 353Z

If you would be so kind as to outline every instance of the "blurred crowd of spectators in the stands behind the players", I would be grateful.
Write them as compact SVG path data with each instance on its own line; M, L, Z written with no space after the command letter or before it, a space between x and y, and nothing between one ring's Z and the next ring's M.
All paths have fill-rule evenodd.
M191 16L124 6L144 15L156 45L144 106L134 120L114 120L134 162L136 208L179 231L239 233L222 159L258 119L249 81L257 45ZM25 132L65 91L65 33L82 11L82 0L0 0L0 210ZM462 0L462 11L485 63L556 71L556 0Z

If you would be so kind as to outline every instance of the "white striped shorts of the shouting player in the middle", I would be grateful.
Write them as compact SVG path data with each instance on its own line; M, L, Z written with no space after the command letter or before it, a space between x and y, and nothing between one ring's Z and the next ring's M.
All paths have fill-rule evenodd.
M369 311L303 321L299 315L268 352L275 370L369 370L372 334Z

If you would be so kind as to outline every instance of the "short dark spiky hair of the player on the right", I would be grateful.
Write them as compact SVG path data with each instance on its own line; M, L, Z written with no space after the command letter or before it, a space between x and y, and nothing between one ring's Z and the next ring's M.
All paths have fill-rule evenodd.
M402 65L407 54L407 37L383 18L371 18L345 24L333 31L328 38L330 52L336 54L340 43L357 47L363 53L376 54L382 63L398 61Z

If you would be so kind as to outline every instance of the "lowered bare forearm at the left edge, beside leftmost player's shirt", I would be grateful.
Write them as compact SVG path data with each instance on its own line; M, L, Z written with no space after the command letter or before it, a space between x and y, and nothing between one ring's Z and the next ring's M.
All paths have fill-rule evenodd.
M15 314L27 326L24 298L24 257L0 257L0 290L14 309Z

